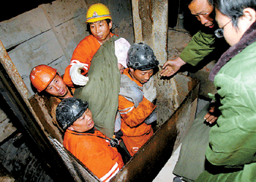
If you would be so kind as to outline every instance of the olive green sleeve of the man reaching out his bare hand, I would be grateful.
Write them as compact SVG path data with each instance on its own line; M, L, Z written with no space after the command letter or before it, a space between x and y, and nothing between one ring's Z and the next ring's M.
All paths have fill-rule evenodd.
M186 63L196 66L214 50L215 39L214 34L206 34L203 31L198 31L179 57Z

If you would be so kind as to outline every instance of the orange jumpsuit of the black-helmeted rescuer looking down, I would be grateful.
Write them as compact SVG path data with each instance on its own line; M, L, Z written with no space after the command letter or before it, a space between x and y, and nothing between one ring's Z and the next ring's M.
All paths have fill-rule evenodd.
M138 86L143 86L138 80L133 79L129 75L128 70L129 68L124 69L124 75L127 75ZM118 110L121 114L121 131L124 133L122 139L131 156L134 156L138 149L153 135L151 124L146 124L143 121L157 107L144 96L138 107L134 106L135 104L127 100L124 96L118 96Z

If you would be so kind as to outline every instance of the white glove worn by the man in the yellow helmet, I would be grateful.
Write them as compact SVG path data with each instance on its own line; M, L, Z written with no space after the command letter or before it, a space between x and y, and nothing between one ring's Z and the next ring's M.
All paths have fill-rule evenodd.
M71 77L72 83L78 86L85 86L89 81L89 77L81 75L81 70L83 68L88 70L88 64L80 63L79 61L73 60L71 62L72 67L70 67L69 75Z

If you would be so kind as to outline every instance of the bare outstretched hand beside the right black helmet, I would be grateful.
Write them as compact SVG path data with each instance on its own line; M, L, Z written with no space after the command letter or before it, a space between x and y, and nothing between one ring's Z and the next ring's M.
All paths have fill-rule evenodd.
M162 66L162 71L160 72L160 75L162 77L170 77L171 75L178 72L178 69L180 69L181 66L183 66L184 64L186 64L186 62L183 61L180 57L174 60L166 61L165 64Z

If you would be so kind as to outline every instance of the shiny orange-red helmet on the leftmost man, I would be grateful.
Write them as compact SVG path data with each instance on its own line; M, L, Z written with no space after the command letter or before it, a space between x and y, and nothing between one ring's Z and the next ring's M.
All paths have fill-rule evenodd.
M30 73L31 83L38 92L45 90L57 74L57 69L41 64L34 67Z

